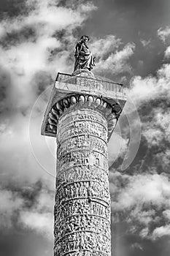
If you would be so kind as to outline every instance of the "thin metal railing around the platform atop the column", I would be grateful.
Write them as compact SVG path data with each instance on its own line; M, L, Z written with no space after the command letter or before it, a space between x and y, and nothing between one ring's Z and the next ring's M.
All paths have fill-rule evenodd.
M115 91L123 93L123 84L99 80L96 78L83 77L80 75L69 75L58 73L55 81L77 84L79 86L90 86L92 89L103 89L104 91Z

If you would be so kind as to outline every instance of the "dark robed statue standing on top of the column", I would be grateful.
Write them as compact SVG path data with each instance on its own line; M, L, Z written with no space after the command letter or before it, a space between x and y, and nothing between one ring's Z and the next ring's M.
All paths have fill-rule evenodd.
M75 63L74 63L74 71L77 69L88 69L91 70L95 66L94 59L90 50L88 49L87 42L89 41L89 37L83 35L80 38L80 41L77 42L75 47Z

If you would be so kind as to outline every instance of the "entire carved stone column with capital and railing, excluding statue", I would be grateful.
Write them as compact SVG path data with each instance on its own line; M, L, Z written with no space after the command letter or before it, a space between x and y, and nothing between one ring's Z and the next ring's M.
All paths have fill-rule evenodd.
M111 256L107 142L124 105L122 85L87 69L57 75L42 123L57 140L55 256Z

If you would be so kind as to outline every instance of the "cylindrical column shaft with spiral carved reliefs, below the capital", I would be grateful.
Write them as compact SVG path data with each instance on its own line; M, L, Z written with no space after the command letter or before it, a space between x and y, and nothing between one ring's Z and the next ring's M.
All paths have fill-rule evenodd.
M57 124L54 253L110 256L108 120L104 107L78 101Z

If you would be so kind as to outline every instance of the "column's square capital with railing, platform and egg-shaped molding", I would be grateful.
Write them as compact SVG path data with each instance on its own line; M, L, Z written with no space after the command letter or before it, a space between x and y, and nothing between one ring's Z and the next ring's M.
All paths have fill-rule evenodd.
M58 120L73 109L90 108L107 119L108 140L125 105L123 86L83 69L58 73L42 123L42 135L56 136Z

